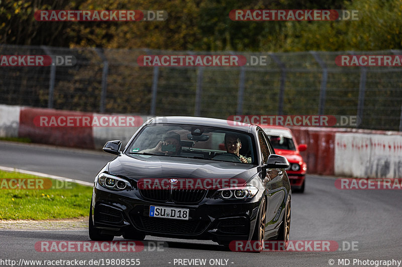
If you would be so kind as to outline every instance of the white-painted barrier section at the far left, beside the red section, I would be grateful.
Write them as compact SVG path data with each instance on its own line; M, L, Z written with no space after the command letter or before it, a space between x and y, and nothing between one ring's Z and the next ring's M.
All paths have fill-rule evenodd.
M0 137L18 137L20 107L0 105Z

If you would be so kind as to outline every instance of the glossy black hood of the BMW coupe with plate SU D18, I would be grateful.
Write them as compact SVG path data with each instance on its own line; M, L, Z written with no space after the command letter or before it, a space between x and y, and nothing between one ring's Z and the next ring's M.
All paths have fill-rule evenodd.
M109 164L109 173L138 180L140 178L241 178L248 180L257 166L166 156L122 154Z

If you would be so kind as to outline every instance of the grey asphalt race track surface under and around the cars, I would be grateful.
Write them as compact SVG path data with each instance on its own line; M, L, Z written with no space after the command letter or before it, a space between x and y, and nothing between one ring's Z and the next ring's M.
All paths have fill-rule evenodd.
M97 171L113 158L103 152L13 142L0 142L0 152L1 166L87 182L92 182ZM225 260L226 266L331 266L329 262L334 259L333 266L340 266L338 259L349 259L349 266L358 266L359 262L353 260L360 259L359 266L366 266L363 260L402 260L401 190L339 190L334 181L334 177L309 175L305 193L292 195L290 240L334 240L340 249L344 245L345 251L246 253L230 251L212 241L147 236L144 241L147 251L141 252L37 252L34 247L37 241L87 241L87 231L0 230L0 262L2 259L18 262L20 258L138 258L140 266L188 266L174 264L174 259L200 258L206 259L206 264L197 266L218 266L210 264L214 259L224 259L220 266L225 266ZM115 240L124 239L116 237ZM159 249L163 251L150 249L156 241L164 241L163 248ZM353 251L347 249L352 242L357 244Z

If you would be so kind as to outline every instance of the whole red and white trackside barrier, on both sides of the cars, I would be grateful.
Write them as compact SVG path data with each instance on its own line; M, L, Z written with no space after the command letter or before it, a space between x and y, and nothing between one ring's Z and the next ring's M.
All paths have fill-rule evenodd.
M38 127L36 116L91 116L92 113L0 105L0 136L33 142L98 149L109 140L127 144L139 127ZM143 122L150 117L141 116ZM358 178L402 178L402 132L345 128L290 127L307 172Z

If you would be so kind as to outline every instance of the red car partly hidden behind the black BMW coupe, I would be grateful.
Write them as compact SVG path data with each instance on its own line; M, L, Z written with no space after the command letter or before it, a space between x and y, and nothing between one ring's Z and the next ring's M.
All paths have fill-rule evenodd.
M290 166L286 169L290 185L294 191L304 192L307 164L299 152L307 149L306 144L297 145L290 129L282 126L261 126L268 135L275 153L286 157Z

